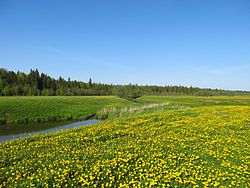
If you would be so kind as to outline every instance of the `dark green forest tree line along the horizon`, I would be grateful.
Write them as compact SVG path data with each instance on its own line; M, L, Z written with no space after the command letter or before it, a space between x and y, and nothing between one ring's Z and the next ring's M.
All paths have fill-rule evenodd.
M0 68L0 96L103 96L137 98L142 95L249 95L248 91L202 89L185 86L113 85L52 78L36 70L28 74Z

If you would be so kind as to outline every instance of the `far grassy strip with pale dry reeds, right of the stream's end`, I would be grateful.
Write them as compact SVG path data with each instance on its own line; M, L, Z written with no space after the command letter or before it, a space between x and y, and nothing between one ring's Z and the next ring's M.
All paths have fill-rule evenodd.
M129 117L145 113L164 112L202 106L250 106L250 96L142 96L134 102L137 104L122 108L105 107L98 112L100 117Z

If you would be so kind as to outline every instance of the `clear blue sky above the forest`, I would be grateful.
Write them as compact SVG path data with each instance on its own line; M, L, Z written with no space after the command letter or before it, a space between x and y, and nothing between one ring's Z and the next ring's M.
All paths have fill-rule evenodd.
M250 91L250 1L0 0L0 67Z

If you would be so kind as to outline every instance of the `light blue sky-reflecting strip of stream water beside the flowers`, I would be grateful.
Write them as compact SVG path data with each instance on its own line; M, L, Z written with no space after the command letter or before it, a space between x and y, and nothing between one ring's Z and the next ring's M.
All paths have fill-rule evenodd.
M92 120L78 121L78 122L74 122L74 123L67 123L67 124L57 126L57 127L48 128L48 129L45 129L45 130L18 133L18 134L0 135L0 142L4 142L4 141L7 141L7 140L12 140L12 139L24 138L24 137L28 137L28 136L35 135L35 134L45 134L45 133L59 131L59 130L72 129L72 128L75 128L75 127L95 124L95 123L98 123L98 122L101 122L101 120L92 119ZM62 124L62 122L61 122L61 124Z

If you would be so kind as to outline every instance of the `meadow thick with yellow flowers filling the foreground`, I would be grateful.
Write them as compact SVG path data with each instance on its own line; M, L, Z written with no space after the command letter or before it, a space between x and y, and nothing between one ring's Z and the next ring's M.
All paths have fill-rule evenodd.
M119 118L0 144L0 187L250 187L250 107Z

